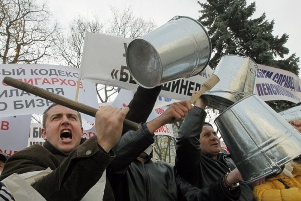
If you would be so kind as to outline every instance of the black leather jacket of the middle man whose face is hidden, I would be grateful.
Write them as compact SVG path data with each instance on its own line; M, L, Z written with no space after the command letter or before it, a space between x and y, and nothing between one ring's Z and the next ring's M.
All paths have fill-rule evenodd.
M115 200L178 200L171 164L150 157L144 163L136 159L152 143L154 134L141 129L125 133L115 146L116 158L107 168Z

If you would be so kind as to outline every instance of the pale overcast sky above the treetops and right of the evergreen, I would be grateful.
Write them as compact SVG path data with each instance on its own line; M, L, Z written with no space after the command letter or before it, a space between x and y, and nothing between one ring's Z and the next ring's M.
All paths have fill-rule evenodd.
M43 1L43 0L37 0ZM205 2L201 0L201 2ZM247 0L250 4L251 0ZM295 0L257 0L255 18L263 12L268 20L275 20L273 35L281 36L283 33L289 35L285 44L290 52L301 57L301 1ZM200 6L195 0L48 0L48 5L53 15L62 25L68 25L78 15L91 18L97 14L100 20L107 20L111 16L109 5L122 10L131 6L136 17L152 19L159 27L167 23L177 15L188 16L197 19L200 14Z

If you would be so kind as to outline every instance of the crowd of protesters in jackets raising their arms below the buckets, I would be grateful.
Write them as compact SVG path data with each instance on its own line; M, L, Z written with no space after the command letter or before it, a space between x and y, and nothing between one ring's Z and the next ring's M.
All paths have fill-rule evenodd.
M299 159L280 174L243 183L233 153L221 151L216 131L205 122L203 97L194 105L174 103L146 122L161 88L139 86L128 107L101 108L96 135L88 140L80 113L50 106L43 114L43 146L0 155L0 200L301 200ZM140 129L125 130L124 119ZM175 166L152 161L154 132L183 119ZM301 130L301 121L290 123Z

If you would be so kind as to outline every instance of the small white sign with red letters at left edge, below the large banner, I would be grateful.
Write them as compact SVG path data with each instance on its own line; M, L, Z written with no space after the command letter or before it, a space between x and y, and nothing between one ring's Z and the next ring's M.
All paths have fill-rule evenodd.
M0 118L0 152L9 156L27 147L31 115Z

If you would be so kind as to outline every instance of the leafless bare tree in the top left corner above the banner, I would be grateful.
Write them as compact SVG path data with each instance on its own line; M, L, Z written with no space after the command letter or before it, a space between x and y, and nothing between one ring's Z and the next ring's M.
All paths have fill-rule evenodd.
M0 0L0 59L2 63L37 63L50 55L58 24L50 26L46 3Z

